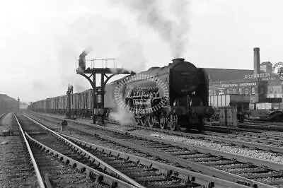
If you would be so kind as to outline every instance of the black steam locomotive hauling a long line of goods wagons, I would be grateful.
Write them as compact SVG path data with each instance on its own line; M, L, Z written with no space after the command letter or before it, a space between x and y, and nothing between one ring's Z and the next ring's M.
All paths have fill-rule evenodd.
M134 76L125 76L105 86L104 110L127 110L141 126L175 130L204 129L204 118L211 117L208 75L185 59L173 59L164 67L151 67ZM74 93L71 110L76 116L93 114L93 90ZM66 113L67 95L33 102L29 109L42 112ZM96 107L101 108L100 95Z

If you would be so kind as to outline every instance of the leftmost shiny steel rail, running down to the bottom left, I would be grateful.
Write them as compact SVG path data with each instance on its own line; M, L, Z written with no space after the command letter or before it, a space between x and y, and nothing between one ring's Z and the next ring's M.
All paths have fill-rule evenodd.
M23 140L25 141L25 146L27 146L27 148L28 148L28 153L29 153L29 155L30 155L30 160L31 160L32 163L33 163L33 168L34 168L34 170L35 170L35 175L36 175L36 177L37 177L37 182L38 182L40 188L45 188L45 184L44 184L44 182L43 182L43 180L42 180L42 177L41 177L41 175L40 175L40 170L38 169L37 163L36 163L35 158L34 158L34 156L33 156L33 151L31 151L31 149L30 149L30 144L28 143L28 140L27 140L26 137L25 137L25 134L24 134L24 132L23 132L23 129L22 129L22 127L21 127L20 122L18 122L18 118L16 117L15 114L13 114L13 116L15 117L16 122L17 122L17 124L18 124L18 127L19 127L19 129L20 129L20 131L21 131L21 135L23 136Z

